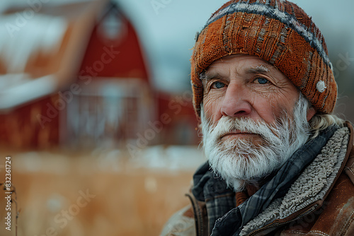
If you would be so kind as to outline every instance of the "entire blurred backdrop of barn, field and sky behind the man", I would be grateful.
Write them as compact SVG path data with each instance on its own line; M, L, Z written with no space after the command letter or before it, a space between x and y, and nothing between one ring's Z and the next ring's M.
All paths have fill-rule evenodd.
M188 204L198 148L195 33L225 1L0 3L0 182L11 157L11 231L159 235ZM329 47L336 113L354 121L354 2L294 0ZM17 210L16 210L17 209Z

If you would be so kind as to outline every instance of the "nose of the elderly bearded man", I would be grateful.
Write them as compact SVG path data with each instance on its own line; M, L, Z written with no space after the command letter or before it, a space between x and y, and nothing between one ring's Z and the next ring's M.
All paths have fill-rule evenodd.
M229 117L247 117L252 112L250 94L239 84L229 84L222 101L221 113Z

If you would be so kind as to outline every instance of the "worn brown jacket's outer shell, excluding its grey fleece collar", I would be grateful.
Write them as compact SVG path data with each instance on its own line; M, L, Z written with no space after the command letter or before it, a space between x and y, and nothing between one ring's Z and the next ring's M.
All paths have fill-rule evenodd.
M305 204L304 208L298 209L285 218L276 218L271 223L257 228L259 221L263 220L262 217L270 216L276 212L276 209L273 209L273 212L270 209L268 213L261 213L262 216L259 219L254 219L256 226L251 227L249 231L246 230L244 235L354 236L354 132L349 123L346 125L350 132L349 141L348 145L341 146L346 153L345 156L343 154L338 173L329 189L322 193L323 196L321 195L321 198L313 203ZM193 194L188 194L188 196L192 201L192 206L176 213L166 223L161 235L210 235L205 203L197 201ZM311 197L309 196L309 199Z

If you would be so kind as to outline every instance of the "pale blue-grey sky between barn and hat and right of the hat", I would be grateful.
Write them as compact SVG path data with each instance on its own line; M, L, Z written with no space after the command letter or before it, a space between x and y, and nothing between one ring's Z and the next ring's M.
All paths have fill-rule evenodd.
M137 28L152 66L157 88L188 89L191 48L195 33L226 1L217 0L116 0ZM293 0L312 16L328 47L331 59L349 53L354 58L353 0ZM332 48L333 48L332 47ZM354 61L352 62L354 65ZM353 69L353 65L350 68Z

